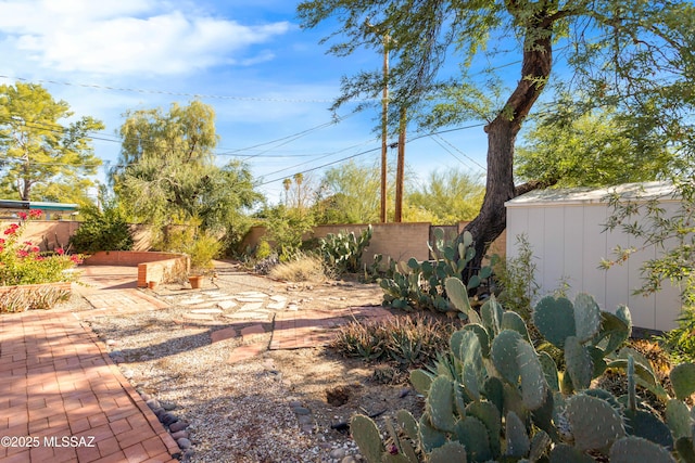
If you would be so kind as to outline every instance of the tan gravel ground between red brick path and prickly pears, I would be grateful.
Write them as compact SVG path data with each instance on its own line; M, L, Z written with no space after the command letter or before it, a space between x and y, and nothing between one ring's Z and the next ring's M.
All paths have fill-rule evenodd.
M231 267L224 267L218 273L216 287L205 291L283 294L289 303L302 308L379 301L375 300L378 288L362 291L362 285L346 284L341 291L337 291L336 283L295 286L248 275ZM343 294L345 291L348 295ZM191 291L166 285L150 294L172 307L126 317L87 317L86 323L105 343L112 359L146 400L155 399L176 419L189 424L182 436L191 447L188 451L182 449L184 461L363 461L349 435L313 421L306 398L295 394L295 385L287 380L289 375L276 368L273 352L228 364L230 351L242 342L236 337L211 344L210 332L232 321L216 318L181 324L181 317L191 311L184 304L190 299ZM74 295L63 309L88 310L89 304ZM269 340L269 334L266 336Z

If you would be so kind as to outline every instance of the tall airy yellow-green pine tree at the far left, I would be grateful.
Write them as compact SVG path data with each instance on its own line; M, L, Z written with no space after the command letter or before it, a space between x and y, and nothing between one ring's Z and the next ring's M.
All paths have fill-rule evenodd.
M85 116L61 125L74 114L40 85L0 86L0 193L22 201L87 203L101 159L89 132L101 121Z

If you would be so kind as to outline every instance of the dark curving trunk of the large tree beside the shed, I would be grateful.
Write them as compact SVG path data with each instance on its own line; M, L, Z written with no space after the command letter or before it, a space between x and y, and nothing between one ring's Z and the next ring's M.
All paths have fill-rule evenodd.
M552 17L536 16L532 31L527 33L521 79L506 102L505 108L485 126L488 133L488 179L485 196L478 217L465 231L473 236L476 257L468 274L480 268L490 243L502 234L507 226L504 203L517 195L514 185L514 145L521 123L540 97L551 74L553 63ZM541 31L541 33L540 33ZM529 38L533 37L533 39ZM459 236L459 240L463 236Z

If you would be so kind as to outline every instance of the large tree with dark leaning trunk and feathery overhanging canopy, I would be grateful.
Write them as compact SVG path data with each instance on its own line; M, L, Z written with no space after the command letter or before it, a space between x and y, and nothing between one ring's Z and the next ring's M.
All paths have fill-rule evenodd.
M391 52L388 82L380 69L346 77L336 106L364 97L379 104L388 83L396 103L390 107L427 114L422 123L431 128L484 120L485 196L466 227L477 259L506 227L504 203L540 184L515 184L514 151L552 78L569 94L581 91L593 106L610 103L643 115L635 129L661 130L667 137L677 129L665 126L669 118L662 113L683 120L695 95L695 8L690 1L309 0L298 8L305 28L338 21L326 39L337 40L329 49L337 55L361 48L380 52L384 43ZM507 49L502 63L502 55L495 55L501 48ZM555 61L557 55L561 61ZM478 69L471 66L480 56L500 66L483 69L478 85ZM444 67L451 60L459 73ZM517 61L518 78L506 90L507 65ZM555 68L561 68L561 78ZM390 120L397 121L397 113Z

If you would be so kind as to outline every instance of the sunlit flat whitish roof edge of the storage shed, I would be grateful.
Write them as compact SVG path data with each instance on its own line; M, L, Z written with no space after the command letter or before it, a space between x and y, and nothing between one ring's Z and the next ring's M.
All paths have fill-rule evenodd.
M561 206L579 204L605 204L608 195L618 193L630 201L678 201L675 188L670 182L623 183L601 189L572 188L534 190L507 201L506 207Z

